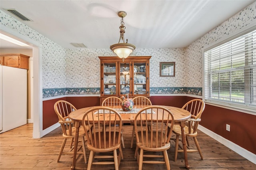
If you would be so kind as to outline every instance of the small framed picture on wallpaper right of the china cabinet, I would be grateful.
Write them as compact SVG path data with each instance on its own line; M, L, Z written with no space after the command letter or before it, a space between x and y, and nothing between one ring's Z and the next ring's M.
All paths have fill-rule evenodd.
M175 77L175 62L160 62L160 77Z

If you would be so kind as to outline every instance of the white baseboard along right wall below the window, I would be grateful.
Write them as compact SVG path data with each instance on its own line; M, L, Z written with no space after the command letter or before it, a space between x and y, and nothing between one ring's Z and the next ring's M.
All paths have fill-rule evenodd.
M205 134L207 134L208 136L214 138L221 144L227 146L234 152L236 152L236 153L240 154L241 156L243 156L244 158L248 159L252 163L256 164L256 154L242 148L241 146L231 142L230 140L227 140L226 138L212 132L211 130L209 130L201 125L198 126L198 129L201 130L202 132L204 132Z

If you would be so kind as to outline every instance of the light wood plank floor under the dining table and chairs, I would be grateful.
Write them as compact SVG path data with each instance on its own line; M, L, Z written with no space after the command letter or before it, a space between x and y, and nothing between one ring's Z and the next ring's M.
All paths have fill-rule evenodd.
M50 132L46 136L33 139L32 124L27 124L8 132L0 134L0 169L1 170L69 170L72 164L72 155L62 155L60 162L56 162L60 146L62 144L62 132L60 128ZM124 159L121 160L120 170L136 170L138 164L134 158L134 148L130 148L132 126L123 128L125 147ZM190 144L194 148L194 143ZM256 170L256 165L236 154L226 146L199 132L198 142L201 146L204 160L200 159L197 152L188 153L190 169L197 170ZM135 143L135 142L134 142ZM89 150L87 150L87 158ZM184 170L182 153L178 153L178 160L174 158L174 142L168 150L170 166L172 170ZM83 159L78 160L76 169L85 169ZM92 166L93 170L112 170L114 165ZM143 164L144 170L166 169L164 164Z

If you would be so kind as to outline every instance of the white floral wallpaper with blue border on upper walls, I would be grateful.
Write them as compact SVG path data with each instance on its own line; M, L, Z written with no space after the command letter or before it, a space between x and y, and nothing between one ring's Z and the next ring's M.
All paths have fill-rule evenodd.
M202 96L202 51L233 32L256 22L256 2L186 48L135 49L133 56L150 55L150 94ZM100 59L114 56L110 49L64 49L0 10L0 25L42 46L43 97L100 94ZM160 77L159 62L175 62L175 77Z

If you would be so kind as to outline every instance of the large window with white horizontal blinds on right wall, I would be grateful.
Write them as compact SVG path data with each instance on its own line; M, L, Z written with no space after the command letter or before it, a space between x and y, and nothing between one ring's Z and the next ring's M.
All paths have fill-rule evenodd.
M204 51L204 99L256 106L256 30Z

